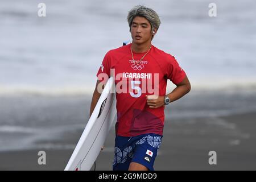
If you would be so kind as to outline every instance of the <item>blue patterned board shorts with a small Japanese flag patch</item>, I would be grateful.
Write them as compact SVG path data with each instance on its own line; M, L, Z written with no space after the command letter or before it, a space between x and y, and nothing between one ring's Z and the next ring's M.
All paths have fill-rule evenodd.
M115 137L113 171L127 171L130 163L135 162L154 171L162 135L143 134L136 137Z

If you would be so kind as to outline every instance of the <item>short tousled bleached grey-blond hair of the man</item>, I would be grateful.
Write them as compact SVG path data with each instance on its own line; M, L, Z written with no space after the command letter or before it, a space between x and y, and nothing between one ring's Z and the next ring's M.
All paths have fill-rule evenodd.
M136 16L144 17L148 20L148 22L150 22L151 32L154 30L154 28L158 30L161 23L158 14L154 10L148 7L138 5L133 7L133 9L129 11L127 16L127 21L129 23L130 31L131 31L131 23L133 23L133 19Z

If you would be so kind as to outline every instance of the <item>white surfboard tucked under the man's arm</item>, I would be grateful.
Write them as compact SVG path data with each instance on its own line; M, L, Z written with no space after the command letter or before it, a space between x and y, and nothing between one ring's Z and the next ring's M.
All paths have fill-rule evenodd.
M110 92L111 90L111 92ZM115 123L115 82L110 77L82 133L65 171L89 171Z

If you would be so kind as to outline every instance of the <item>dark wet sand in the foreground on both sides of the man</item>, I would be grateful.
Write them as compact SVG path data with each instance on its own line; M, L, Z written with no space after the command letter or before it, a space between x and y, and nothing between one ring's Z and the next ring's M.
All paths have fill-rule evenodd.
M255 170L255 118L256 112L166 121L155 170ZM79 137L73 136L73 141ZM96 170L112 170L113 150L114 131L97 158ZM72 154L72 150L44 151L47 164L41 166L38 150L1 152L0 170L63 170ZM208 163L209 151L217 152L217 165Z

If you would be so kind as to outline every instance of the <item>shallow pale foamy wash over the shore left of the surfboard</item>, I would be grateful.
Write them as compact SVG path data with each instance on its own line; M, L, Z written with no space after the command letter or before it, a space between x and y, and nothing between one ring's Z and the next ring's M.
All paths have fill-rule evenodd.
M0 151L73 150L75 143L65 143L63 136L82 129L81 124L50 128L3 125L0 126Z

